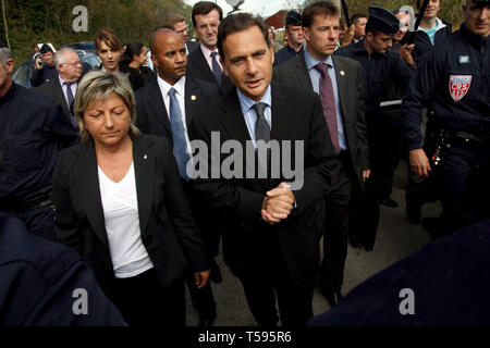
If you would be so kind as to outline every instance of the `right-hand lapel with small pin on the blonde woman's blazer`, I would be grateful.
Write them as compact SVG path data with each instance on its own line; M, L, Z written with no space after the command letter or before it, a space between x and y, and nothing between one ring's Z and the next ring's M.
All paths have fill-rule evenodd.
M151 212L151 201L154 199L154 175L156 159L148 154L148 148L154 141L147 137L132 137L133 138L133 162L134 175L136 181L136 192L138 200L139 212L139 228L142 236L146 231L148 219Z

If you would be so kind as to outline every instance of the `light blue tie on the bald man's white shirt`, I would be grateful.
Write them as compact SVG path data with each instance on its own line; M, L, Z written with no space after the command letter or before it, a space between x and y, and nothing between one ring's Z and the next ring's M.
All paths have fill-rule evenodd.
M175 89L170 88L170 126L172 128L173 154L175 156L181 177L188 181L185 166L191 157L187 153L187 142L185 141L184 123L182 122L181 108L175 97Z

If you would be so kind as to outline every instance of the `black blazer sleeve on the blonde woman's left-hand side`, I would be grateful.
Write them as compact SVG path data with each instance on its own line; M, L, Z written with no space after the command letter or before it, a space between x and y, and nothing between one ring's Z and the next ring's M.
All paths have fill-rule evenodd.
M70 194L69 152L62 151L52 175L52 200L54 203L54 232L62 244L75 249L84 257L84 239L78 228L78 219Z

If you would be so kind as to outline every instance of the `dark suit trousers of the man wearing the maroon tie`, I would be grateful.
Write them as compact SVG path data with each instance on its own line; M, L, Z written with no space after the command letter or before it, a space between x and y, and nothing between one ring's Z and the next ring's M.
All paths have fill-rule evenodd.
M347 234L351 216L352 181L356 181L348 151L339 153L340 167L335 185L324 200L323 260L319 284L329 293L340 291L347 257Z

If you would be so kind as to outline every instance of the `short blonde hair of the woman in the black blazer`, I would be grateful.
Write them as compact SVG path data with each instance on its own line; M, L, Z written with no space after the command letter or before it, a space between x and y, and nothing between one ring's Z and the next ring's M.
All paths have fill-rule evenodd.
M138 136L139 129L136 127L136 100L133 88L127 79L127 75L122 73L107 73L103 71L91 71L87 73L78 84L76 98L73 104L75 121L79 128L81 141L91 142L91 135L85 127L84 112L94 100L106 99L111 94L115 94L130 109L130 135Z

